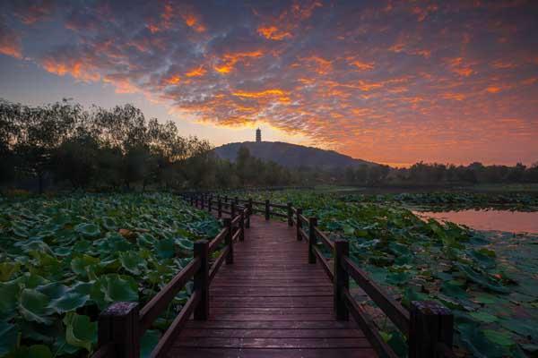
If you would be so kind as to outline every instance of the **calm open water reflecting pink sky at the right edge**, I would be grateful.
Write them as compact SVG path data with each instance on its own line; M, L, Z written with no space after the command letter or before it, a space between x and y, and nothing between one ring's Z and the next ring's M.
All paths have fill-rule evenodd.
M415 214L421 217L452 221L478 230L538 234L538 212L470 209L445 212L420 211L415 212Z

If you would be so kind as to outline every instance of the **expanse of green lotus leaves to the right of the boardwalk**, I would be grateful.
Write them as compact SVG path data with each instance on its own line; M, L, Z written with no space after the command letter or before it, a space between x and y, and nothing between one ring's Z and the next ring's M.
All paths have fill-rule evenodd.
M538 354L538 235L478 231L418 217L405 207L411 199L404 195L366 200L311 191L244 194L291 201L307 217L318 217L325 233L349 240L352 260L404 305L435 300L453 310L458 356ZM428 197L421 198L414 200L424 203ZM471 206L457 200L451 205ZM404 356L404 337L374 303L363 304L376 316L382 337Z

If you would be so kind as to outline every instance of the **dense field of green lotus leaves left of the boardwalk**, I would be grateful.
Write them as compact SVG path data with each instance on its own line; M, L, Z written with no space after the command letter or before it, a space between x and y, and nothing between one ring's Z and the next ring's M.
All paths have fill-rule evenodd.
M149 301L219 230L169 194L0 197L0 357L88 356L101 310ZM144 356L189 294L146 332Z

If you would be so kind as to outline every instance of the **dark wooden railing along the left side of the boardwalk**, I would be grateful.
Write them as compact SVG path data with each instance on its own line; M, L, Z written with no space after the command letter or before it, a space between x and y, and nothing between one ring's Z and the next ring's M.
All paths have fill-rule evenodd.
M209 205L211 209L211 204ZM219 234L211 241L195 242L193 260L146 303L142 310L139 310L139 303L118 302L100 313L98 349L92 358L139 358L140 338L143 333L152 327L152 323L190 280L194 281L193 294L153 348L151 356L161 357L167 353L172 338L184 327L191 314L194 313L195 320L207 320L210 311L209 286L224 261L227 264L233 263L233 244L244 240L246 222L250 222L250 211L245 207L234 207L231 204L228 213L230 217L223 219L224 227ZM219 256L210 262L211 254L217 249L220 250Z

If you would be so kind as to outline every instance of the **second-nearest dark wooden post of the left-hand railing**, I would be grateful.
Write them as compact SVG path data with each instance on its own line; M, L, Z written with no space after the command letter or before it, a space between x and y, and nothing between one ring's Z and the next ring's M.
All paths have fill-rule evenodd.
M209 242L195 242L195 258L200 259L200 268L195 273L194 290L200 292L200 303L195 309L195 320L207 320L209 316Z

